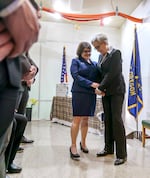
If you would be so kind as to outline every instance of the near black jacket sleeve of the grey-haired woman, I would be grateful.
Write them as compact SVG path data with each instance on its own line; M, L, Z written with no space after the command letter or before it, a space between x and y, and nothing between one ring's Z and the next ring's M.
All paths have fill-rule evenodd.
M105 91L105 89L107 90L107 88L114 82L115 78L122 73L121 52L116 50L103 65L105 74L99 89Z

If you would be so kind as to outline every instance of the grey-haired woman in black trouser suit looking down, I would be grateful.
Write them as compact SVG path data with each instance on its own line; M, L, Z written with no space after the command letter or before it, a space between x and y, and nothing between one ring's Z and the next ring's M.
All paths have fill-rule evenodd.
M108 39L98 34L92 44L100 52L98 67L101 71L101 82L98 89L103 93L102 102L105 114L105 147L97 156L114 153L116 148L115 165L123 164L127 158L125 128L122 120L122 106L125 94L125 82L122 75L121 52L109 49ZM98 90L96 90L99 93Z

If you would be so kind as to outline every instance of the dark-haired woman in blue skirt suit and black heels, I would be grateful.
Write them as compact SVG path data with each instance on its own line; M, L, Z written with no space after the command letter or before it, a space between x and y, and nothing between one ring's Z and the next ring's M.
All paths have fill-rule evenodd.
M71 126L70 147L71 158L79 158L77 153L76 139L81 123L81 142L80 148L84 153L89 150L86 146L86 136L88 131L88 117L94 115L96 105L95 88L99 86L96 82L99 71L97 64L92 62L91 45L88 42L81 42L77 49L77 58L72 60L71 75L73 77L72 85L72 107L73 122Z

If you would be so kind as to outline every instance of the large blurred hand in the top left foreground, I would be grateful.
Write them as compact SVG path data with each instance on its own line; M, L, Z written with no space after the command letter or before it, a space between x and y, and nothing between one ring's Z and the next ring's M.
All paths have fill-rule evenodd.
M16 11L4 17L3 22L14 42L9 57L16 57L28 51L37 41L40 25L36 10L28 0L24 1Z

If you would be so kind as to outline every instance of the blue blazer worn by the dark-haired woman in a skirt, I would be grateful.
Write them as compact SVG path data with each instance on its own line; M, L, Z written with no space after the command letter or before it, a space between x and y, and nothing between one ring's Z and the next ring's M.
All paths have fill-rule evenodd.
M74 79L71 92L95 93L95 89L91 87L91 84L99 82L100 78L96 62L91 61L91 64L89 64L81 57L72 59L70 71Z

